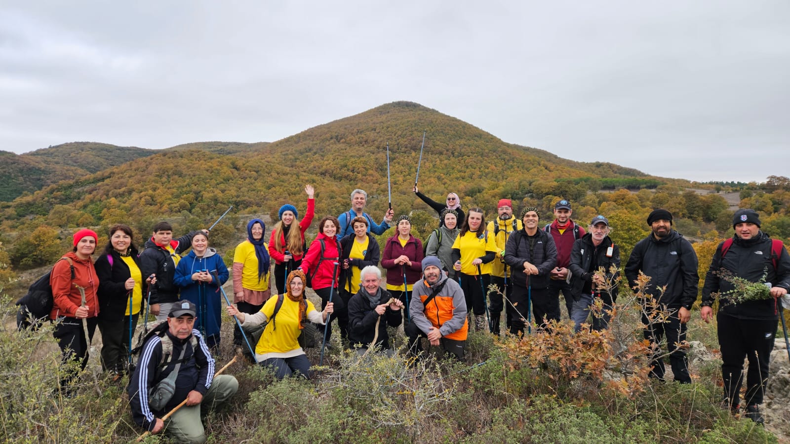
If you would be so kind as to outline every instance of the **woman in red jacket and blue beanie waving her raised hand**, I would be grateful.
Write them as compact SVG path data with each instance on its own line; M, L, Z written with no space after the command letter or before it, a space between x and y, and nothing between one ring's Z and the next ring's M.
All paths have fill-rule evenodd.
M299 211L294 205L281 206L278 212L280 221L274 225L272 237L269 238L269 255L274 258L274 284L278 295L285 291L285 276L302 263L305 250L304 232L313 223L313 186L305 185L304 192L307 193L307 213L304 219L299 221ZM292 230L292 227L299 227L299 230ZM286 251L288 254L285 254Z

